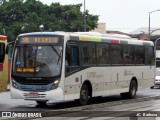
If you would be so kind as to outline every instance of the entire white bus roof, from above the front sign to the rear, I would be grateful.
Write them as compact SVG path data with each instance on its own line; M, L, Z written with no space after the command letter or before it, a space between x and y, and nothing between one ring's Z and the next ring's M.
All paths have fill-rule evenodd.
M90 41L90 42L106 42L115 44L133 44L153 46L152 41L138 40L129 36L117 34L101 34L98 32L31 32L20 34L18 37L33 35L64 35L69 36L70 40Z

